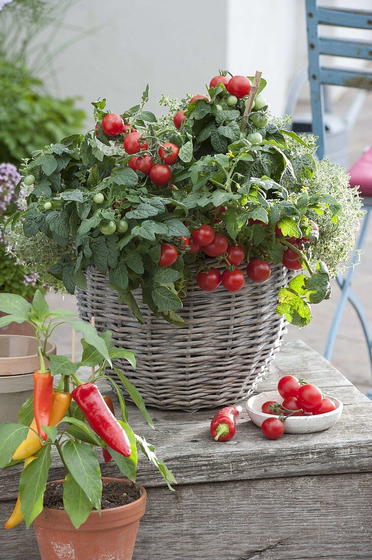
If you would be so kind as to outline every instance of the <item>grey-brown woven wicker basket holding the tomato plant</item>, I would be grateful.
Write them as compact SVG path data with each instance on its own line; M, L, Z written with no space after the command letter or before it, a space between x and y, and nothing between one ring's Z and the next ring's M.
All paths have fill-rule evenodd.
M77 300L82 319L94 316L98 331L110 330L116 346L135 353L135 371L124 360L116 366L146 404L192 412L234 403L256 388L286 332L275 307L291 274L277 265L267 282L247 281L236 293L223 287L203 292L192 283L180 311L183 328L157 319L134 292L145 319L140 325L95 268L87 270L87 289Z

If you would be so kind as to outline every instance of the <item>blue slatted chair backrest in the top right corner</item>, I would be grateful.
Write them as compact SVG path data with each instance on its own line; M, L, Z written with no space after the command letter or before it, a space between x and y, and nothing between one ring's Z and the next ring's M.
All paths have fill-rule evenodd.
M306 1L309 51L309 82L313 114L313 133L318 139L318 157L325 152L323 84L372 89L372 72L366 69L326 68L321 66L321 54L336 57L372 60L372 42L340 39L319 35L319 25L372 30L372 12L367 10L333 10L319 7L317 0Z

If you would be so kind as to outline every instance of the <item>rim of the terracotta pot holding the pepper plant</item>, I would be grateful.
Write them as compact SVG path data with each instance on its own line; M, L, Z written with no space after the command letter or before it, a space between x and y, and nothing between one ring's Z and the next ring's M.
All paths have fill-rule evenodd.
M49 480L46 484L50 484L51 482L64 482L64 478L60 478L60 479L56 479L56 480ZM45 516L45 515L49 515L49 516L56 516L58 517L58 523L59 524L63 524L63 525L70 525L71 528L73 530L79 531L82 528L84 528L85 525L85 530L93 530L93 528L90 528L88 525L88 521L91 520L91 522L93 521L93 523L96 523L97 521L100 522L100 524L105 523L105 519L103 516L115 516L115 514L121 513L121 517L123 517L125 513L130 512L130 510L134 510L133 514L129 514L129 518L131 519L133 518L137 518L138 517L142 517L142 515L136 515L135 511L140 511L140 510L145 510L146 507L146 501L147 501L147 492L145 491L145 488L143 486L141 486L140 484L138 484L137 482L132 482L131 480L128 480L126 478L118 478L118 477L102 477L102 482L120 482L121 484L135 484L136 487L138 487L140 489L141 492L141 496L139 498L137 498L137 500L135 500L134 502L131 503L126 503L124 506L117 506L117 507L109 507L105 510L101 510L101 515L98 513L97 510L92 510L87 518L86 521L84 521L84 523L79 527L79 529L74 528L74 526L72 525L72 522L70 521L70 518L67 514L67 511L65 509L63 510L55 510L53 507L43 507L43 511L41 511L41 513L39 514L39 516L36 517L36 519L34 520L34 522L40 518L41 521L41 517ZM144 513L144 511L143 511ZM41 521L43 522L43 521ZM111 521L106 520L106 522L109 522L111 524Z

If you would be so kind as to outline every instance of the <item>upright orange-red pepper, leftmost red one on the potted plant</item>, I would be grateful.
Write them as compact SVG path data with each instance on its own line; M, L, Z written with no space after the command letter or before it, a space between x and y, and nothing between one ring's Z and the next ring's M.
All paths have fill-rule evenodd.
M37 433L45 441L48 437L41 426L50 425L51 398L53 396L53 377L46 370L44 358L39 348L40 371L34 372L34 418Z

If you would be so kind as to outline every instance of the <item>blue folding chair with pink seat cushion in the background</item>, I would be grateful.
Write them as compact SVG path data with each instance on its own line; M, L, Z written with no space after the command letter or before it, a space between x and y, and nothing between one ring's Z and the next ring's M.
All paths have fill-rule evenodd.
M318 7L317 0L305 0L307 8L307 30L309 51L309 81L311 92L311 105L313 115L313 133L319 137L317 155L319 159L326 155L326 133L324 127L324 97L323 85L335 85L345 87L357 87L365 90L372 89L372 72L366 69L327 68L321 65L321 55L332 55L336 57L359 58L372 60L372 42L351 39L340 39L319 35L319 25L331 25L337 27L349 27L353 29L372 30L372 12L364 10L346 10ZM350 170L351 186L354 186L353 170L364 169L365 175L360 181L360 192L364 197L364 209L366 211L362 221L357 250L361 250L365 241L368 222L372 212L372 148L361 157L361 160ZM359 167L358 167L359 166ZM360 175L359 175L360 177ZM341 288L341 297L338 301L337 310L333 317L331 330L329 332L325 357L331 360L333 347L335 345L338 326L342 318L343 310L347 301L350 301L356 310L364 330L366 342L372 367L372 337L363 307L351 289L354 277L354 265L358 260L355 255L349 272L337 277L337 283ZM372 392L370 397L372 398Z

